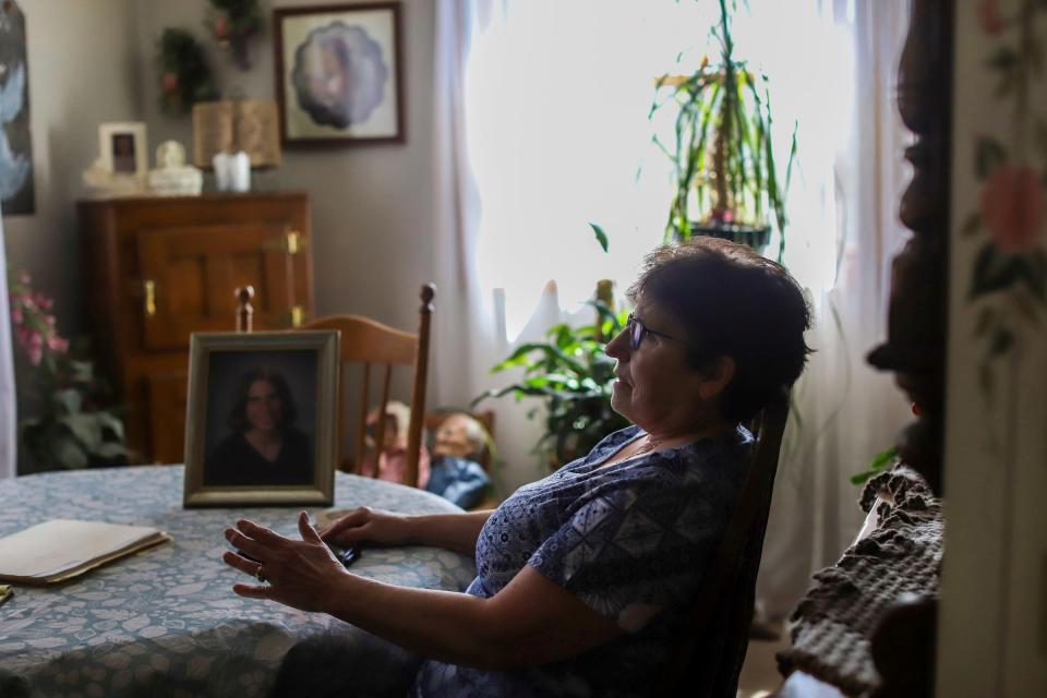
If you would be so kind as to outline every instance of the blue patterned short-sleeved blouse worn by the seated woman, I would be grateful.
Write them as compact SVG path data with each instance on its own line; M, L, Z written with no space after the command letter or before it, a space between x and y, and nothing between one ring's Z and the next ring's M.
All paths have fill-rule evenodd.
M637 426L615 432L585 458L517 490L480 532L477 578L466 590L493 597L531 565L626 633L542 666L493 671L429 661L412 696L651 693L737 501L753 436L739 426L599 468L642 434Z

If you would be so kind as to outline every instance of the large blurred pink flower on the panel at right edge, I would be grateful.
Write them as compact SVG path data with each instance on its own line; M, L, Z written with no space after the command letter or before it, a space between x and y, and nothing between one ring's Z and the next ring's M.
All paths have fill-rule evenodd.
M1036 246L1043 234L1044 194L1032 167L997 167L982 190L982 222L1004 252Z

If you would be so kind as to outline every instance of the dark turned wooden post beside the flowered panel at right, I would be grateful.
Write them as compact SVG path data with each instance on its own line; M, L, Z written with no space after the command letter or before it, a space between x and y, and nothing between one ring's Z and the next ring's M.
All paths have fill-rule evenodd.
M898 109L916 136L906 148L913 179L900 218L913 231L891 268L887 341L868 361L892 371L913 400L915 421L899 438L901 459L942 494L949 308L950 171L954 0L913 0L898 71ZM894 605L880 618L871 653L876 696L931 696L938 602Z

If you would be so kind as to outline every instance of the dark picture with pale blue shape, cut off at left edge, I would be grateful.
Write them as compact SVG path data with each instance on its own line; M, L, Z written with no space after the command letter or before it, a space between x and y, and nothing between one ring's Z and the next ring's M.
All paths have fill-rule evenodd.
M0 2L0 210L36 213L25 15L13 0Z

